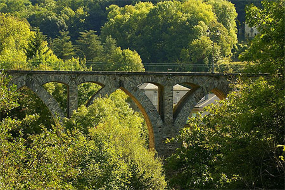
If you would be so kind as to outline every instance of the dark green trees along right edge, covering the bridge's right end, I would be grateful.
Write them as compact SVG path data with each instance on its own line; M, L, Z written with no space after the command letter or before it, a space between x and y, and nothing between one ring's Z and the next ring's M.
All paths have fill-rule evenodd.
M209 115L192 118L177 139L182 147L168 158L169 184L178 188L284 189L284 1L264 1L247 9L260 24L242 58L268 78L238 81ZM273 26L274 25L274 26ZM270 34L270 36L269 36ZM268 40L268 38L272 40ZM278 41L279 40L279 41ZM255 55L255 53L257 55ZM198 159L197 159L198 158Z

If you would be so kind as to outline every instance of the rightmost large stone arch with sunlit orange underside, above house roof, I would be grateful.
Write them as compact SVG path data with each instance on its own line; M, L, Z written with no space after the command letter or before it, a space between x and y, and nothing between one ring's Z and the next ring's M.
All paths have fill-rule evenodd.
M196 86L193 90L190 90L187 96L180 103L181 106L174 112L174 127L182 128L195 105L200 99L210 91L212 91L217 97L223 99L229 92L227 81L208 81L203 86Z

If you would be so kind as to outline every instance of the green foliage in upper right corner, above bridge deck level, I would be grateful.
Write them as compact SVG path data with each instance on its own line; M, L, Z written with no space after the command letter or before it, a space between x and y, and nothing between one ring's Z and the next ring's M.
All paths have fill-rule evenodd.
M257 26L260 32L240 56L241 60L255 63L252 72L284 75L284 3L263 1L263 9L253 5L246 9L247 23Z

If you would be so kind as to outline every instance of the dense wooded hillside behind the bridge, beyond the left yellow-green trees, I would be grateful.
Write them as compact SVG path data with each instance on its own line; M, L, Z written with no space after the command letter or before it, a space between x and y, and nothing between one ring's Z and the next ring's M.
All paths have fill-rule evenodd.
M39 28L53 53L63 60L74 56L87 62L139 65L141 57L146 63L207 65L213 40L207 29L220 31L214 42L215 61L232 56L237 43L237 13L226 0L21 0L3 1L0 11Z

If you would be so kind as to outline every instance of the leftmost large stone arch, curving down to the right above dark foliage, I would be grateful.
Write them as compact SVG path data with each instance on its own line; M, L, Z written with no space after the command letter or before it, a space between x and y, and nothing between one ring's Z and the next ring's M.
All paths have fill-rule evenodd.
M64 113L62 109L59 107L58 103L50 95L44 87L38 81L28 77L28 76L21 76L13 79L11 84L17 85L17 89L19 90L23 86L28 87L31 91L33 91L41 100L42 102L48 107L49 111L52 113L52 116L59 117L60 120L64 118Z

